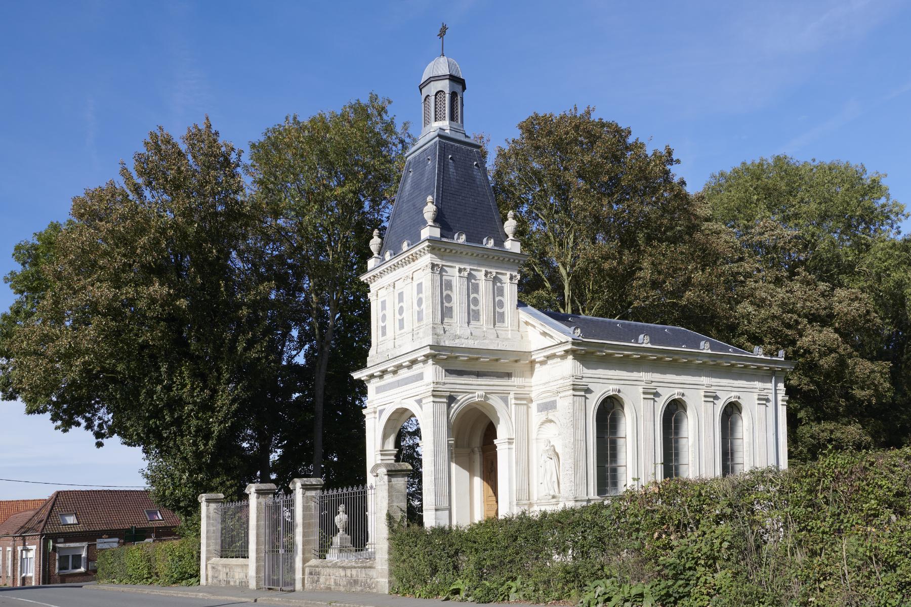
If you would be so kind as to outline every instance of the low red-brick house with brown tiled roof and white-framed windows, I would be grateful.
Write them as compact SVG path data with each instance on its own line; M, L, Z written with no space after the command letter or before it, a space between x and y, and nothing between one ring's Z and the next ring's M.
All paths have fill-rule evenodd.
M178 524L148 491L55 491L0 523L0 584L91 582L97 551L176 539Z

